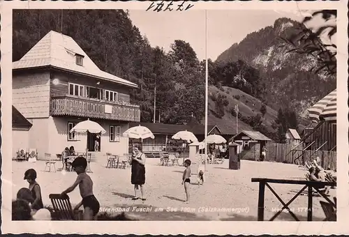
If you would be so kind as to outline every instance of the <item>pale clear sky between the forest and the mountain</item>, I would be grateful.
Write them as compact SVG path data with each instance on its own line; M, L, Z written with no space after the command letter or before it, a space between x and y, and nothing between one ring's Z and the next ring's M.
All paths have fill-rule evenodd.
M206 58L205 10L159 13L129 10L129 13L133 24L142 36L147 36L152 47L163 47L168 52L174 40L184 40L190 43L200 61ZM248 33L272 26L280 17L300 21L305 15L280 10L207 10L207 57L216 60Z

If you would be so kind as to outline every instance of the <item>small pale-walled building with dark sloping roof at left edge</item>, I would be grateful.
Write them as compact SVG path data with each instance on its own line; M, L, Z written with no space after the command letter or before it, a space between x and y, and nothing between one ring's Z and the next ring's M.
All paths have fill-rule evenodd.
M17 156L17 151L29 149L29 131L32 124L24 116L12 107L12 157Z

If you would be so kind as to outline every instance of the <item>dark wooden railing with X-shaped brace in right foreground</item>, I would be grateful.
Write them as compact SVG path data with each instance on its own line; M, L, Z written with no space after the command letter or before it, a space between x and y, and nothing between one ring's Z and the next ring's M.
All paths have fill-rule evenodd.
M271 219L270 221L274 220L284 209L288 210L288 213L292 215L292 217L299 221L295 213L292 213L290 211L290 208L288 206L294 201L306 188L308 188L308 221L313 220L313 188L318 191L318 194L320 194L326 201L329 202L334 208L336 208L336 204L334 204L331 199L329 199L325 194L320 192L319 190L319 185L327 185L327 186L336 186L335 182L318 182L318 181L304 181L304 180L291 180L291 179L274 179L274 178L251 178L251 182L258 182L259 183L259 194L258 194L258 221L263 221L264 220L264 197L265 197L265 186L269 188L270 191L274 194L274 196L283 204L283 208L279 210ZM290 201L288 201L287 204L283 202L281 197L270 187L269 183L282 183L282 184L297 184L297 185L304 185L302 190L297 192L295 194L295 197L292 197Z

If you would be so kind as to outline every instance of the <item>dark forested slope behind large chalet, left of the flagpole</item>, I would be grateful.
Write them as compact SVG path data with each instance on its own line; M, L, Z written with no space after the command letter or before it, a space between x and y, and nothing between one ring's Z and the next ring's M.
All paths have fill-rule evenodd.
M153 121L155 89L156 121L205 116L205 67L184 40L174 40L168 53L151 47L125 10L14 10L13 61L51 30L72 37L101 70L138 84L130 94L141 121Z

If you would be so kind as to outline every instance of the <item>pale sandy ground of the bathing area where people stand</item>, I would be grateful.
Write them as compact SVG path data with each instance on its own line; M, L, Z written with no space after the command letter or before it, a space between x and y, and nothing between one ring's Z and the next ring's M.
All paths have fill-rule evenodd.
M94 181L94 194L101 203L100 211L119 213L138 220L257 220L258 183L251 178L288 178L303 179L305 170L297 165L274 162L253 162L242 160L241 169L228 169L228 160L221 165L207 165L205 183L196 184L198 165L191 167L191 201L185 204L184 186L181 176L184 167L163 167L158 159L147 159L146 164L146 201L131 200L134 197L131 185L131 169L107 169L106 158L101 155L96 162L91 162L93 173L89 173ZM57 162L57 172L45 172L45 162L35 163L13 161L13 199L17 190L27 187L23 179L24 171L34 168L38 172L37 182L40 184L44 205L50 205L49 194L61 193L73 184L77 174L62 172L61 162ZM303 185L271 184L272 188L287 203L303 187ZM330 190L331 197L336 190ZM81 201L79 189L69 194L74 206ZM313 198L313 220L323 220L325 215L319 201L322 197ZM290 205L291 210L300 220L306 220L307 196L301 195ZM265 190L265 220L274 215L282 204L274 194ZM276 220L293 220L289 213L281 213Z

